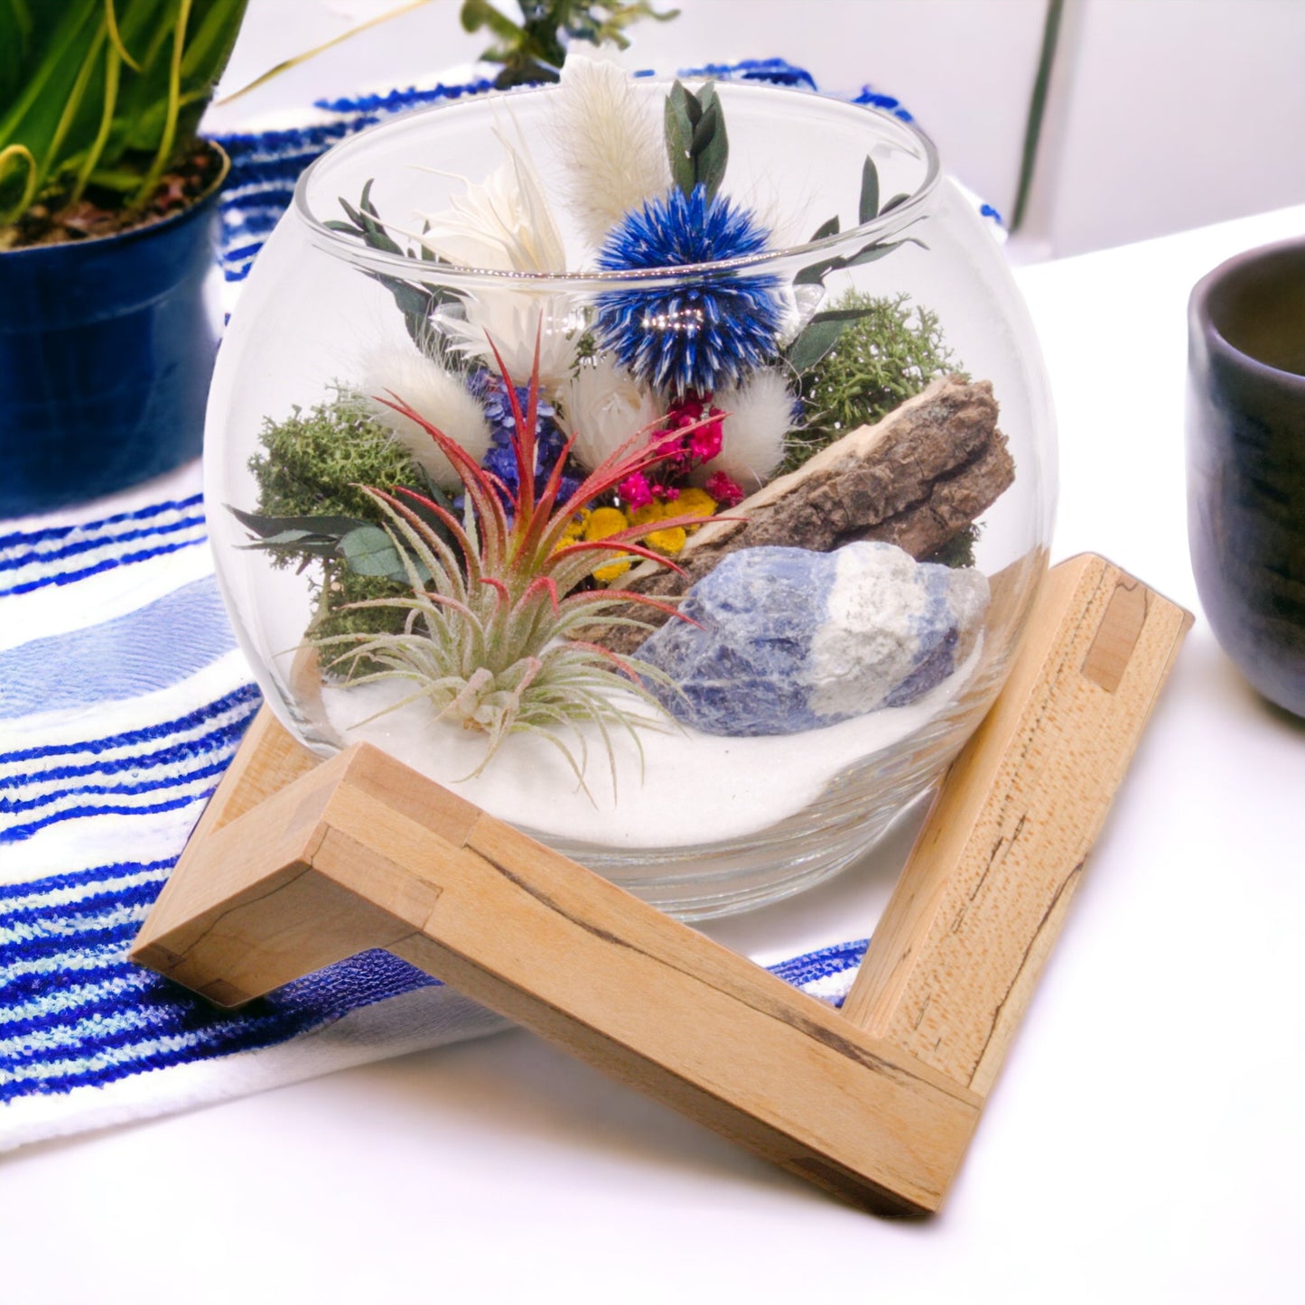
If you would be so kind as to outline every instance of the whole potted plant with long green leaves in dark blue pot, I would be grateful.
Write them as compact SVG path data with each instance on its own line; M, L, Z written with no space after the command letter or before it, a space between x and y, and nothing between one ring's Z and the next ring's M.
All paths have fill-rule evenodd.
M227 172L200 117L248 0L0 0L0 517L198 454Z

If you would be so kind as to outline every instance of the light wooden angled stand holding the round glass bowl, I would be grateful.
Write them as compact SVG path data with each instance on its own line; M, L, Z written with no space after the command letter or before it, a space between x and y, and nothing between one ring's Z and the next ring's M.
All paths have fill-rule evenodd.
M842 1011L367 744L317 762L266 710L133 958L238 1005L386 947L848 1201L928 1212L1190 622L1100 557L1051 572Z

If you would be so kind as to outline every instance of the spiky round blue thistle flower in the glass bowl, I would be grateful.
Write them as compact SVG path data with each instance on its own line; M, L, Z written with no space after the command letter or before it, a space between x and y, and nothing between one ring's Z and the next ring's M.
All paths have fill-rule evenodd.
M702 185L649 200L612 228L598 252L604 271L683 268L743 258L769 232L746 210ZM607 290L594 329L628 372L676 398L739 381L775 352L783 317L774 275L718 273L692 284Z

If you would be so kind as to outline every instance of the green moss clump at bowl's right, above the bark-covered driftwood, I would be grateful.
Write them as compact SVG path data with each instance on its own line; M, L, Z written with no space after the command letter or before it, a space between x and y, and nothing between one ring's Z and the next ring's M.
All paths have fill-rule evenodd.
M878 422L940 376L959 371L927 308L907 295L850 291L834 309L859 309L834 347L801 377L804 427L788 438L780 471L793 471L859 425Z

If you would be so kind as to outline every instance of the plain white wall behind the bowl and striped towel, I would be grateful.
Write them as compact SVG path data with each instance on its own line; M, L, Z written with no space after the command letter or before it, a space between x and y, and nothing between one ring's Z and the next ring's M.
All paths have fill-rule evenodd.
M252 0L227 86L245 85L401 0ZM514 12L512 0L500 0ZM629 63L672 72L776 55L822 90L895 95L944 164L1014 211L1047 0L655 0ZM402 84L475 59L461 0L432 0L231 111L300 104L324 82ZM329 60L329 61L328 61ZM1034 192L1028 261L1305 202L1302 0L1066 0ZM219 116L217 121L224 119Z

